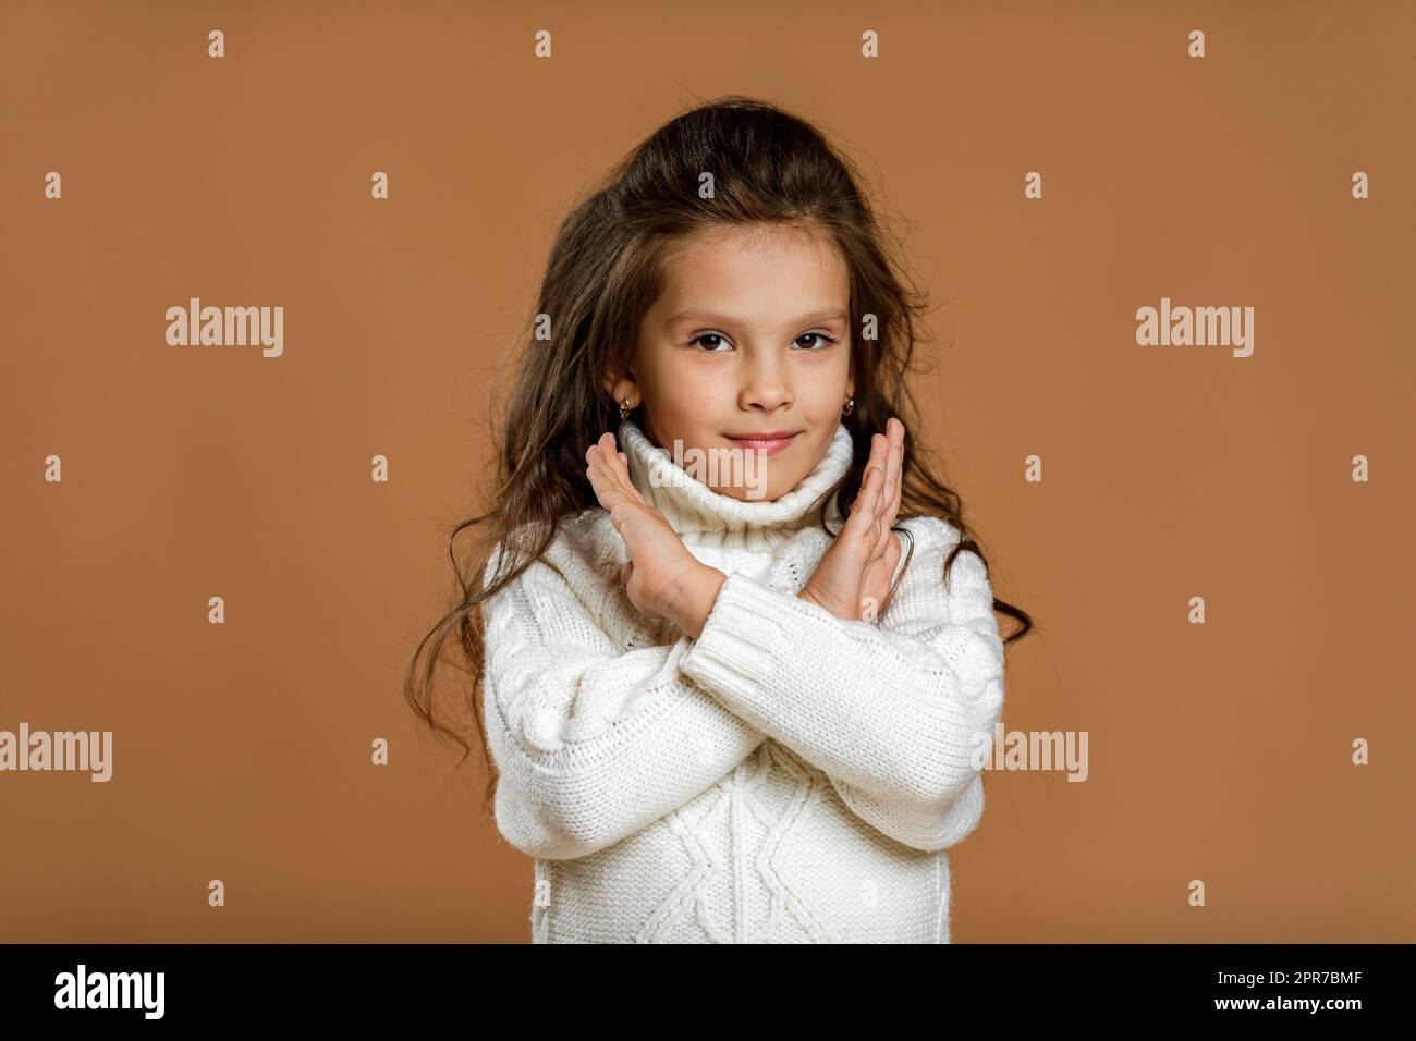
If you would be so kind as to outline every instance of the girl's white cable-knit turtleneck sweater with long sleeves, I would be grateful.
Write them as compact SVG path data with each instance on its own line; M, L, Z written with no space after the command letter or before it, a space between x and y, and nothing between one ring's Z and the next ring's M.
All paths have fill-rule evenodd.
M1003 708L983 561L960 552L946 592L957 528L903 520L915 552L879 622L835 618L796 593L830 544L809 508L850 467L844 425L776 500L714 491L633 421L619 438L728 579L697 640L644 618L596 506L547 551L561 574L537 561L483 605L496 819L535 860L532 940L947 943L946 850L983 813L976 738Z

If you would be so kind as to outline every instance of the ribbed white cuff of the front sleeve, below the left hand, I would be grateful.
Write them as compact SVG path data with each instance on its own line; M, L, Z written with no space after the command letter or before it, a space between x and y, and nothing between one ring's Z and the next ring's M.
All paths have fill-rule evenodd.
M745 575L728 575L702 633L678 660L680 671L750 707L755 695L769 686L776 667L773 649L780 649L786 639L779 598L780 593Z

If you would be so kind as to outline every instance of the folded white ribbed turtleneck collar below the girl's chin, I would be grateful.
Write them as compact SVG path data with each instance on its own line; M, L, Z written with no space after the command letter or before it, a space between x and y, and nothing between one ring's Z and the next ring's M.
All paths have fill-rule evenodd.
M714 491L654 445L633 419L619 428L620 450L629 459L629 476L650 506L680 535L708 534L741 538L766 530L793 530L809 523L811 506L851 469L854 448L845 423L837 423L826 453L801 482L777 499L741 500ZM831 501L827 520L840 520ZM729 534L731 533L731 534Z

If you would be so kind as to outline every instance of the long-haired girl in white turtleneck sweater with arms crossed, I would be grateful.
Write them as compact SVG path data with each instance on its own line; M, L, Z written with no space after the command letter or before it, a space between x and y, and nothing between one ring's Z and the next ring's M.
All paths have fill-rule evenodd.
M920 306L847 161L745 98L561 228L498 496L453 533L489 538L408 683L462 739L456 627L535 942L949 942L994 609L1032 622L898 418Z

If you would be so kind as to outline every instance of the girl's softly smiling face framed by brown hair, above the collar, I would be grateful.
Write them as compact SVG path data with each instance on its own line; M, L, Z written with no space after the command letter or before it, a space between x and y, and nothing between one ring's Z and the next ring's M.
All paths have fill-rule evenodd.
M777 499L820 462L852 392L845 262L782 225L711 227L664 262L634 371L610 392L643 401L644 433L715 491ZM742 440L753 435L789 439ZM688 467L691 449L731 465Z

